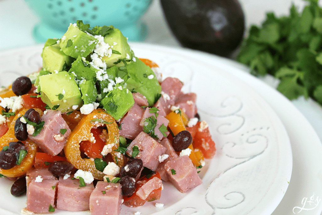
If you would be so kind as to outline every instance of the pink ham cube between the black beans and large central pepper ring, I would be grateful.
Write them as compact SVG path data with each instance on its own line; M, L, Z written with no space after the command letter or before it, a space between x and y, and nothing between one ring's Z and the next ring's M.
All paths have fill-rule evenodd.
M60 111L47 110L41 120L45 121L41 132L35 137L33 135L28 135L28 137L47 154L57 155L64 148L71 130L62 118ZM66 129L66 131L62 129ZM65 133L62 134L61 130Z

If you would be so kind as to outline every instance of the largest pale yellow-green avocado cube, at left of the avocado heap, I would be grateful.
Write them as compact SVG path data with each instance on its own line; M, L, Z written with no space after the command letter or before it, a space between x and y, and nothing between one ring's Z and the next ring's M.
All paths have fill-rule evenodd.
M74 77L66 71L40 76L39 85L41 100L51 109L68 112L73 110L72 106L80 108L83 104Z

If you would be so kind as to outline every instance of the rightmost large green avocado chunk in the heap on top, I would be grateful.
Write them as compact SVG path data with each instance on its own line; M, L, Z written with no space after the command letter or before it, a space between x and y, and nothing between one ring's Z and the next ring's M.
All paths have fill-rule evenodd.
M141 93L147 98L149 106L156 102L161 93L161 86L154 72L136 57L136 61L126 66L128 70L127 88L132 92Z

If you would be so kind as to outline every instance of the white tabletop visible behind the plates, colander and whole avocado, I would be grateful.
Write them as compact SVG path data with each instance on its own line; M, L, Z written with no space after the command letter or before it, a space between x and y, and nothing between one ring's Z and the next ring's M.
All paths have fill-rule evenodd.
M305 4L302 0L240 0L240 2L245 13L247 28L251 24L260 24L268 11L273 11L278 16L287 15L292 2L299 7L299 10ZM159 1L152 2L142 19L147 24L149 33L145 42L180 47L167 27ZM38 21L39 19L23 0L0 0L0 51L35 45L32 30ZM277 84L270 77L263 80L271 86ZM303 98L293 101L293 104L308 119L321 140L322 108L312 100L306 101Z

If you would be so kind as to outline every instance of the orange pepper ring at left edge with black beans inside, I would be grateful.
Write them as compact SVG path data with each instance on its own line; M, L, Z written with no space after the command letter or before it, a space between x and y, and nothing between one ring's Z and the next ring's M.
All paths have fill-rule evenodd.
M9 142L17 142L18 140L14 136L14 122L18 119L19 116L24 115L24 113L28 109L21 110L17 115L14 116L12 123L9 126L8 132L5 133L0 138L0 150L3 147L9 146ZM42 110L35 108L35 111L39 112L40 116L43 115ZM26 147L26 151L28 152L27 155L24 157L20 165L16 165L9 170L2 170L0 169L0 174L7 176L7 177L18 177L24 175L27 171L29 171L33 166L33 161L35 159L37 145L30 140L29 138L26 141L22 141Z

